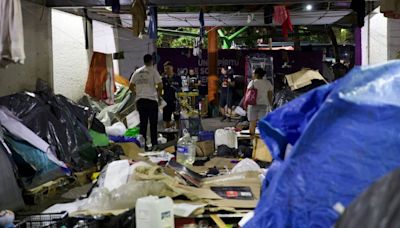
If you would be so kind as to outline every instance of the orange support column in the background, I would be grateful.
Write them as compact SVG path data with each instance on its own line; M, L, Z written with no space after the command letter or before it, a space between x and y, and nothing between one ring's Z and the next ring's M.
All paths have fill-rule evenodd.
M208 28L210 29L210 28ZM207 29L207 30L208 30ZM218 33L212 28L208 36L208 100L218 104Z

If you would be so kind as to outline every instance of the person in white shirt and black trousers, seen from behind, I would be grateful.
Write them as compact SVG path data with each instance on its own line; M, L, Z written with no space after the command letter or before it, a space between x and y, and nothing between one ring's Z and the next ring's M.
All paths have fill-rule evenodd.
M143 57L144 66L137 69L130 80L129 89L136 95L136 109L140 116L140 134L146 138L147 123L150 122L152 146L157 145L158 102L162 93L162 80L153 67L153 57Z

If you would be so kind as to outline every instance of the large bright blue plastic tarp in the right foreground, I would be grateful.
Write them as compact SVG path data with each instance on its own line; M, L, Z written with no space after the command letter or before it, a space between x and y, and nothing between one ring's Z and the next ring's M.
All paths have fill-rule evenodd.
M275 161L246 227L332 227L335 204L348 206L400 166L399 96L395 61L353 69L265 117L259 128Z

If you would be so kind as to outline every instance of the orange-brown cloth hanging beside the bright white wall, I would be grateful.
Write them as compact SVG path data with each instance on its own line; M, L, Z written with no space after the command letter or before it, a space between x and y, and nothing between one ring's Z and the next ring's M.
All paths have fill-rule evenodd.
M85 93L109 104L114 103L114 70L112 55L93 52Z

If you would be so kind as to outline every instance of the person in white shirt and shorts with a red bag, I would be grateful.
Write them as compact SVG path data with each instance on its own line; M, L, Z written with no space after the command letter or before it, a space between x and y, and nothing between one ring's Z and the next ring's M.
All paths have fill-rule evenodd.
M257 89L256 105L249 105L247 107L247 118L250 121L250 135L255 135L257 122L263 118L272 107L272 91L273 86L271 82L264 78L265 71L257 68L253 73L253 80L247 86L247 89Z

